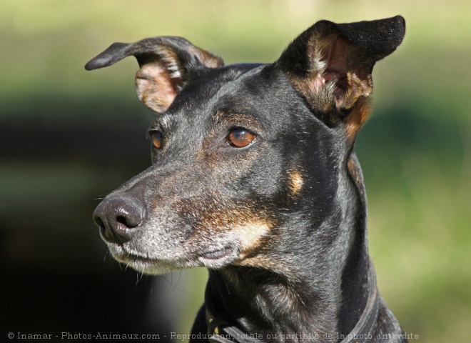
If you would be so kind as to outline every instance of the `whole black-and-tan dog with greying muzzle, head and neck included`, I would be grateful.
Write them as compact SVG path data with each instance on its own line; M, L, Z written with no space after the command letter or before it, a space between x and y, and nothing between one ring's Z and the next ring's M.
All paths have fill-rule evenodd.
M318 21L273 64L231 64L186 39L115 43L156 112L152 165L93 218L113 257L146 274L207 267L191 342L407 342L378 294L354 144L375 62L402 16Z

